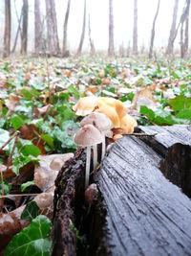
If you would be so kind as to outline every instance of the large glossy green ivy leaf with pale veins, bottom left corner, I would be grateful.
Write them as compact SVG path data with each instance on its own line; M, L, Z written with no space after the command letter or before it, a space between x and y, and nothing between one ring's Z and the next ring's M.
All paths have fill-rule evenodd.
M32 220L31 225L16 234L5 249L4 256L50 256L52 241L48 238L52 222L43 215Z

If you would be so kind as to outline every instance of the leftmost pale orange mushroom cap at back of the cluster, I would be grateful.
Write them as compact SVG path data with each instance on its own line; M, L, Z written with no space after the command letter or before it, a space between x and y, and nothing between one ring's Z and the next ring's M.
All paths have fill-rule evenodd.
M74 106L73 110L78 116L86 116L93 112L96 107L97 97L81 98Z

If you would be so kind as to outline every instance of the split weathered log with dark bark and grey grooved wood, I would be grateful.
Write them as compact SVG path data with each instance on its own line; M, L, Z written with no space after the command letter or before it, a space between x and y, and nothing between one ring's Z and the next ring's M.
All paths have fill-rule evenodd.
M164 176L186 192L182 180L190 184L190 128L141 129L158 134L124 136L115 143L97 172L100 193L88 217L84 152L77 151L62 168L55 183L53 255L191 255L191 201ZM76 234L86 235L83 253L76 250Z

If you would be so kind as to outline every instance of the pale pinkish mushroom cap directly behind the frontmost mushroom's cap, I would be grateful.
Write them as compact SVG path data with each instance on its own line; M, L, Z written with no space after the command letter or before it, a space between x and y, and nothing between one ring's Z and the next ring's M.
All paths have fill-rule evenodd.
M80 122L81 127L85 125L93 125L98 130L105 131L112 128L112 121L103 113L93 112Z

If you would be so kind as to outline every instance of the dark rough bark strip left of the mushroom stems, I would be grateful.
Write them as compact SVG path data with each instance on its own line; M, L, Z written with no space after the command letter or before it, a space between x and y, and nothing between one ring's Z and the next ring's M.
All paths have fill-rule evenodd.
M84 192L85 153L76 151L74 158L65 163L55 180L53 214L53 254L76 255L76 241L71 223L75 222L75 209L81 209ZM80 213L78 213L80 215Z

